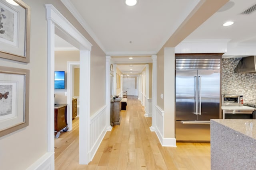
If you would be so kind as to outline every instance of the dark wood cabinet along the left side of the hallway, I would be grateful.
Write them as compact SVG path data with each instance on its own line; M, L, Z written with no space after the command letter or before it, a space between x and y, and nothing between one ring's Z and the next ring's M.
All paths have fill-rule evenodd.
M120 125L121 122L121 99L112 100L110 104L110 125Z

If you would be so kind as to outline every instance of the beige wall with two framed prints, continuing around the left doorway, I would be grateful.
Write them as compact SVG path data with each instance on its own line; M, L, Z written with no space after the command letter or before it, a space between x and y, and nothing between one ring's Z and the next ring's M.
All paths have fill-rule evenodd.
M24 170L47 152L47 20L45 4L53 4L92 43L91 114L105 106L104 52L60 0L23 0L31 7L30 63L0 58L0 66L30 70L29 125L0 137L0 169ZM95 78L96 77L96 78ZM102 96L99 98L99 96Z

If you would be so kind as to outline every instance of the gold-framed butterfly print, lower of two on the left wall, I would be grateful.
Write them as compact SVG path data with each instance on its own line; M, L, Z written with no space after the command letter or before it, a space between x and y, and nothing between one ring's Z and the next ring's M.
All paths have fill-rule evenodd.
M0 66L0 137L28 126L29 70Z

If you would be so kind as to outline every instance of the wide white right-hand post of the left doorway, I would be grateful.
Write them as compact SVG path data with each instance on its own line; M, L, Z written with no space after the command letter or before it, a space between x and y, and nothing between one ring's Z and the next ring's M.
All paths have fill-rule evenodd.
M90 140L90 51L80 51L79 163L88 164Z

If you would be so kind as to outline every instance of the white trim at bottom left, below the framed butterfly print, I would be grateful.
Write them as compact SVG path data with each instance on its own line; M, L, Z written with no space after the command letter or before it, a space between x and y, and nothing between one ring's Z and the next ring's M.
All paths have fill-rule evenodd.
M54 170L54 152L46 152L26 170Z

